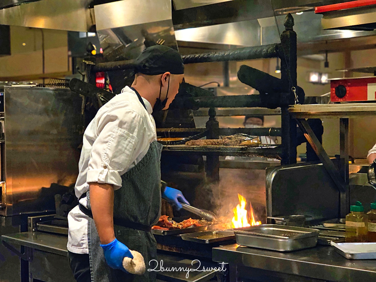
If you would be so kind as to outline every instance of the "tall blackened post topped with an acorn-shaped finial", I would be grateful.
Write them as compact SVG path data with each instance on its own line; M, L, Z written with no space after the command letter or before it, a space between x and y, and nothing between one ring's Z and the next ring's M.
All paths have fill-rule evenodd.
M297 85L296 32L293 30L294 18L290 13L286 16L284 26L281 48L278 50L281 59L281 80L284 86L284 93L281 94L282 146L284 147L282 165L296 163L296 121L288 114L288 105L294 103L294 93L291 88Z

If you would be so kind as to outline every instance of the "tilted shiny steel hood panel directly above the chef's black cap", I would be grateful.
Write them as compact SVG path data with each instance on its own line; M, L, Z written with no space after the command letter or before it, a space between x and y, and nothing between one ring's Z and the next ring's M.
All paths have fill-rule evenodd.
M177 49L171 0L121 0L94 6L106 61L135 59L146 47Z

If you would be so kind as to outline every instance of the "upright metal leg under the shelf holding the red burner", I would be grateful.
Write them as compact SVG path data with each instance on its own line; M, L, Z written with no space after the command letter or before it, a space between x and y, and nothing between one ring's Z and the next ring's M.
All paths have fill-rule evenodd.
M340 194L340 215L341 218L345 218L350 212L348 118L340 118L340 173L345 182L345 191Z

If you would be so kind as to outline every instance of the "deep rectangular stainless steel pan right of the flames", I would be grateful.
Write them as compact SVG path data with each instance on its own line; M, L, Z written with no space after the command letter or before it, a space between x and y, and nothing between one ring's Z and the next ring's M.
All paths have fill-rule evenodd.
M277 224L230 229L241 246L291 252L316 246L320 230Z

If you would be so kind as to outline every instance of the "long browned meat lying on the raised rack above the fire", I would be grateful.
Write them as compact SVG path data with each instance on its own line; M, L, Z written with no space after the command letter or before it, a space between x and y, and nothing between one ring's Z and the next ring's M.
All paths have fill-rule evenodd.
M250 136L243 133L237 133L234 135L226 136L223 139L199 139L191 140L185 143L188 146L248 146L257 147L261 144L258 137Z

